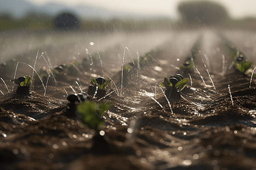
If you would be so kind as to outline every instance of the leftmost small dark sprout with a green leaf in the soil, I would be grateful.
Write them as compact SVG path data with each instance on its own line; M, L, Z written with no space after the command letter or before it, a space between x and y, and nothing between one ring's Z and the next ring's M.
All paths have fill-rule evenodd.
M18 84L16 94L26 95L30 94L31 87L31 76L30 75L22 75L18 79L11 80L15 84Z

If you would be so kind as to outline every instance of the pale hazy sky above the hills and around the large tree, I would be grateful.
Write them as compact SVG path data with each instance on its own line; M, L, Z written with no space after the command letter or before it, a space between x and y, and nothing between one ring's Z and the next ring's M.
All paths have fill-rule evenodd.
M75 6L79 4L105 7L110 10L130 11L138 14L148 13L171 15L177 18L176 6L183 0L26 0L43 5L47 2L64 3ZM192 0L191 0L192 1ZM214 0L226 7L233 18L243 18L245 16L256 16L255 0Z

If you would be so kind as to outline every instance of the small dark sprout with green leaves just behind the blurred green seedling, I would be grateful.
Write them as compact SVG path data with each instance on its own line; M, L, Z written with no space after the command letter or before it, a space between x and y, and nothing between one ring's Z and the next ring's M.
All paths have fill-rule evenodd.
M106 95L106 87L109 85L110 89L111 84L110 79L106 80L103 77L98 77L96 79L90 78L91 85L88 87L88 95L90 96L96 96L96 97L104 97ZM97 90L97 91L96 91Z

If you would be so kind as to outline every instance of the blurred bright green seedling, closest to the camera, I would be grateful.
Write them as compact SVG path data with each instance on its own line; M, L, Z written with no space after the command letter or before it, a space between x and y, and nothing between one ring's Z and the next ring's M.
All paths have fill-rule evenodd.
M104 104L97 104L93 101L86 100L77 106L77 112L79 113L77 117L79 117L81 125L98 131L104 125L102 116L108 111L109 107L110 101Z

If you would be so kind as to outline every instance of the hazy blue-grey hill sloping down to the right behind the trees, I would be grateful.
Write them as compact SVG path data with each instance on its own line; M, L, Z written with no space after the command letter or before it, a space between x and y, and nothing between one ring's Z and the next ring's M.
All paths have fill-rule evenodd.
M149 18L150 15L138 15L128 12L120 12L113 10L106 10L105 8L99 8L94 6L79 5L75 7L69 7L61 5L60 3L47 3L43 6L36 6L33 3L24 0L3 0L0 5L0 14L13 15L14 18L22 18L28 13L37 12L39 14L47 14L50 16L55 16L61 11L71 11L74 14L80 16L80 18Z

